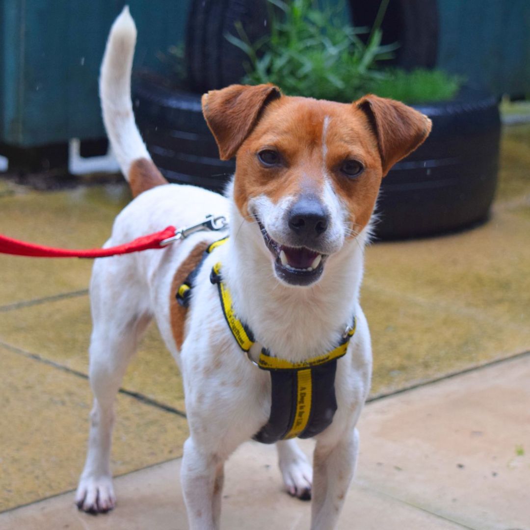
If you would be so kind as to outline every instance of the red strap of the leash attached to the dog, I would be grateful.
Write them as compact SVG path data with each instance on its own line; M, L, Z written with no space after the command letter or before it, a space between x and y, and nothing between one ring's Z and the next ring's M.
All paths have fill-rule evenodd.
M68 250L56 249L52 246L36 245L25 241L17 241L11 237L0 234L0 254L13 254L15 256L31 256L34 258L106 258L117 254L129 254L148 249L163 249L164 240L173 238L176 229L168 226L160 232L137 237L135 240L123 245L111 246L108 249Z

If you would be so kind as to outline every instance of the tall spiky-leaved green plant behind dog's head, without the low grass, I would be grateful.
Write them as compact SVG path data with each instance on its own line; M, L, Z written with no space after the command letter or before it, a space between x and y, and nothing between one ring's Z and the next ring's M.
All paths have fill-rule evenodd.
M397 48L381 45L377 27L365 44L359 35L367 28L341 25L336 13L321 12L311 0L269 3L277 8L270 10L269 36L251 43L241 24L236 24L239 37L226 35L249 57L246 83L274 83L286 94L347 101L381 76L374 65Z

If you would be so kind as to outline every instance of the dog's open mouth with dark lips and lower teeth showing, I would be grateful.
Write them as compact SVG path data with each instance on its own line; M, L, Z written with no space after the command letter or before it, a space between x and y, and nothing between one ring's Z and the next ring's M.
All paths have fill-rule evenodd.
M267 248L275 257L278 277L291 285L310 285L320 278L327 255L302 247L281 245L273 240L258 220Z

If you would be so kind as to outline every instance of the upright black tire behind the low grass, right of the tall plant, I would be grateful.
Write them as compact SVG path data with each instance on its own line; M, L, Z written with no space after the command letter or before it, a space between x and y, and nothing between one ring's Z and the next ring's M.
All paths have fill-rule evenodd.
M371 28L379 2L349 0L352 23ZM432 68L438 57L438 6L436 0L393 0L381 25L383 43L399 42L394 65L410 69Z

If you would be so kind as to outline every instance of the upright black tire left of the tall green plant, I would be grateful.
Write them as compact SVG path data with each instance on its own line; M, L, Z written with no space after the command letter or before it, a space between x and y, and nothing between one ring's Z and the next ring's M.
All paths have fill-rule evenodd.
M191 90L207 92L233 83L245 75L246 54L230 43L241 22L251 42L268 28L267 0L193 0L186 34L186 63Z

